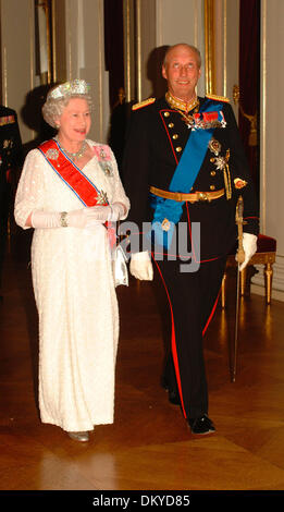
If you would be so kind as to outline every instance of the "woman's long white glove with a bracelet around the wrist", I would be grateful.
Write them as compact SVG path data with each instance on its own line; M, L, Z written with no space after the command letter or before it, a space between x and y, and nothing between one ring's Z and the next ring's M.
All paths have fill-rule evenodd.
M66 225L70 228L91 228L99 224L92 208L72 210L65 215ZM62 228L62 212L35 210L32 212L33 228Z

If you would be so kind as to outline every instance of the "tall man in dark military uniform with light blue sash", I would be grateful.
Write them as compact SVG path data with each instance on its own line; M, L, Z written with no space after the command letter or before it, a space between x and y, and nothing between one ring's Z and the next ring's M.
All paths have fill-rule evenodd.
M123 170L132 204L127 220L146 237L145 222L152 222L152 256L172 317L175 378L171 371L164 376L169 398L177 393L192 432L206 435L215 428L208 417L202 337L217 304L226 255L236 243L237 198L242 194L244 199L242 268L256 251L257 206L229 100L196 96L199 51L185 44L171 47L162 75L168 81L165 97L133 107ZM186 230L180 231L181 225ZM135 278L151 280L151 258L145 245L140 247L132 254L129 269ZM186 268L188 254L192 267ZM171 364L168 367L171 370Z

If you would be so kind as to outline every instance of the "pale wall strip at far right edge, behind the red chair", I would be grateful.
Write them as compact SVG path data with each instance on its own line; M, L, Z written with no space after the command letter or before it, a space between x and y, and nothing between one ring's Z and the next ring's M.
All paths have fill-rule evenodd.
M281 85L284 83L282 48L284 48L284 2L261 2L261 232L277 241L273 266L272 296L284 300L284 164L282 158L284 106ZM262 269L254 278L262 284Z

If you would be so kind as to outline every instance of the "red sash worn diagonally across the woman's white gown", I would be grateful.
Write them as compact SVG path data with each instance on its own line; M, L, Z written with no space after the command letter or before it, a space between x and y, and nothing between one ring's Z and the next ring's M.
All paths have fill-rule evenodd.
M107 196L101 194L84 172L62 151L61 147L51 138L38 147L53 171L76 194L85 206L108 205Z

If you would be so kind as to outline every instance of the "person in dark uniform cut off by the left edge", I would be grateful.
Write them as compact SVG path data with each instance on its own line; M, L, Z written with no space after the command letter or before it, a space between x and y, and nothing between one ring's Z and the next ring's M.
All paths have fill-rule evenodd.
M0 290L4 259L8 219L15 186L16 170L22 164L22 142L16 112L0 106Z

